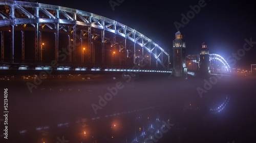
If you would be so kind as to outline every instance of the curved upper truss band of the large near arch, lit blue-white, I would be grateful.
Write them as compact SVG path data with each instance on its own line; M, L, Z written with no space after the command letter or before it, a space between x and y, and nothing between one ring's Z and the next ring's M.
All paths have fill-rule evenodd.
M9 16L4 12L0 11L0 26L7 25L19 25L19 24L31 24L35 28L38 28L38 24L40 23L52 23L55 24L56 30L55 38L58 40L58 30L62 28L62 30L66 30L62 25L72 24L74 27L76 26L88 26L94 27L102 31L108 31L115 35L119 35L123 38L134 42L134 44L142 47L142 50L146 50L153 56L159 64L165 68L165 64L163 62L163 56L169 57L169 54L161 48L158 44L153 42L151 39L147 38L143 34L137 32L133 28L130 28L122 23L119 23L115 20L96 15L90 12L85 12L81 10L76 10L72 8L66 8L61 6L54 6L48 4L41 3L30 3L30 2L20 2L20 1L0 1L0 6L7 6L10 8ZM14 11L18 11L21 15L16 16ZM44 14L44 17L40 17L39 13ZM55 13L55 15L54 15ZM49 26L49 25L48 25ZM90 29L89 29L90 32ZM74 31L75 35L75 31ZM75 36L73 35L73 38ZM90 37L90 35L89 35ZM36 30L36 50L38 49L38 31ZM126 42L125 42L126 43ZM75 44L75 43L74 43ZM58 44L56 44L56 50ZM152 48L153 47L153 48ZM126 48L126 46L125 46ZM154 51L153 51L154 50ZM57 58L57 55L55 55ZM73 55L74 57L76 55ZM38 55L36 55L36 58ZM75 60L75 59L74 59ZM70 58L71 61L71 58ZM165 60L166 61L166 60ZM93 62L93 61L92 61Z

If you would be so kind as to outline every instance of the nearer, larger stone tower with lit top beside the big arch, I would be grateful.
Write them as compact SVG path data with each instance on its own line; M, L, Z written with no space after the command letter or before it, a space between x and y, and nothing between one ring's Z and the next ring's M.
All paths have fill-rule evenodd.
M187 77L186 68L186 43L178 31L173 40L173 68L176 77Z

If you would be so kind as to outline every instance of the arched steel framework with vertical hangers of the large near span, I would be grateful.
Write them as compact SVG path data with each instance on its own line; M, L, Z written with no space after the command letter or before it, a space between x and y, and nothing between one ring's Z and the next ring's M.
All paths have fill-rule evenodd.
M161 48L158 44L153 42L151 39L147 38L143 34L137 32L133 28L130 28L122 23L115 20L96 15L90 12L85 12L81 10L76 10L72 8L66 8L61 6L40 4L40 3L30 3L30 2L20 2L20 1L0 1L0 31L1 35L4 34L4 27L8 27L8 31L11 31L11 59L14 60L14 30L18 29L18 26L22 25L30 26L35 31L35 60L39 60L42 52L40 50L41 45L41 31L42 28L54 31L55 39L55 60L58 61L59 55L59 34L61 32L69 32L69 48L70 44L77 46L77 43L83 43L84 36L87 36L88 49L89 49L89 59L91 63L95 62L95 49L93 41L94 39L101 38L101 48L102 48L102 64L105 59L105 44L107 42L111 43L112 46L119 47L119 51L123 50L125 56L129 53L132 54L133 63L138 64L136 59L139 57L136 52L141 51L143 58L150 60L152 63L152 56L156 59L155 65L160 64L163 68L168 66L169 54ZM11 27L11 28L9 28ZM22 29L24 30L24 29ZM21 31L22 31L21 30ZM108 34L107 34L108 33ZM79 35L80 34L80 35ZM79 35L79 36L78 36ZM2 60L4 58L4 44L2 38ZM80 37L80 38L79 38ZM118 40L122 38L122 40ZM24 33L22 34L22 39L24 39ZM77 39L71 41L72 39ZM127 41L126 41L127 40ZM24 40L22 40L24 41ZM120 42L122 41L122 42ZM130 45L128 44L130 42ZM121 44L120 44L121 43ZM132 43L132 44L131 44ZM82 45L82 44L81 44ZM138 46L141 50L138 49ZM24 42L22 49L22 58L24 60ZM129 49L130 48L130 49ZM81 47L82 49L82 47ZM76 49L75 49L76 50ZM144 52L148 54L145 55ZM69 54L69 62L76 61L76 52ZM82 55L81 55L82 56ZM83 62L83 60L82 60Z

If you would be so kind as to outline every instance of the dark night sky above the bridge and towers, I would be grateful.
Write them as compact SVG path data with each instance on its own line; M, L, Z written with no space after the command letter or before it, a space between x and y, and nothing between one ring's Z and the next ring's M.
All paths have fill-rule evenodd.
M30 0L34 1L34 0ZM232 53L242 51L245 39L256 41L256 16L252 2L245 1L135 1L119 0L112 9L105 1L36 1L51 5L74 8L98 14L123 23L152 39L163 49L172 47L177 28L175 21L182 24L182 15L191 11L190 6L201 4L200 11L191 16L189 22L180 27L186 41L187 54L198 54L201 43L206 42L210 53L218 53L226 60ZM113 2L117 2L113 0ZM255 44L256 45L256 44ZM256 46L236 60L230 58L233 67L256 64Z

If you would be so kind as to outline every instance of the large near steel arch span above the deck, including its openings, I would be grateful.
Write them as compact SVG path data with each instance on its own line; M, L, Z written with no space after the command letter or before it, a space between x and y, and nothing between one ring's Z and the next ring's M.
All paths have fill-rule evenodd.
M49 42L48 45L54 43L53 60L57 62L63 62L59 53L64 52L60 47L66 44L68 45L66 50L68 58L65 60L67 63L83 64L86 61L87 64L92 65L118 63L120 66L130 63L131 66L144 62L148 67L168 67L169 54L163 48L133 28L115 20L72 8L20 1L0 1L0 10L2 63L6 59L9 59L10 63L15 63L16 59L26 62L25 55L28 55L25 53L28 51L25 43L28 37L26 32L30 31L32 32L29 34L32 35L30 43L32 40L34 45L30 49L33 54L29 56L33 56L30 60L36 63L44 62L42 61L44 35L52 33L53 42ZM17 35L20 35L21 39L19 45L15 41ZM6 37L10 39L8 46ZM5 46L10 47L8 53L10 52L11 55L6 56L7 58ZM17 55L16 47L20 47L18 49L21 51L20 55ZM109 60L111 58L112 60Z

